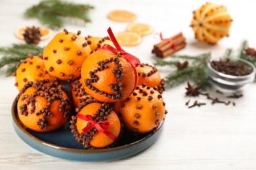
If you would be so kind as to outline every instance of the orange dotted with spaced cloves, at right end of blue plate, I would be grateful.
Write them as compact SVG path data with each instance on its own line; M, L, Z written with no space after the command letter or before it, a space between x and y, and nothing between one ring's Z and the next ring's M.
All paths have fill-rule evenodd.
M161 94L146 84L137 86L127 99L116 102L114 110L121 114L125 129L135 133L151 131L163 121L167 113Z

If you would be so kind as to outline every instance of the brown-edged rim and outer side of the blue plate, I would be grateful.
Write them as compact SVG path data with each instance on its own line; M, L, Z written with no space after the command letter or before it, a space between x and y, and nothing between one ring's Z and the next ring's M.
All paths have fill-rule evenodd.
M133 143L129 143L129 144L124 144L122 146L117 146L117 147L114 147L114 148L106 148L106 149L98 149L98 150L85 150L85 149L79 149L79 148L68 148L68 147L65 147L65 146L58 146L56 144L52 144L52 143L48 143L48 142L45 142L35 136L33 136L31 133L29 133L28 131L26 131L26 129L24 129L24 127L22 127L20 125L20 123L18 122L17 120L17 112L15 111L16 110L16 104L17 104L17 100L16 98L14 99L14 101L12 102L12 126L14 127L14 130L16 132L16 134L20 137L20 139L22 139L22 141L24 141L24 143L28 144L29 146L31 146L32 148L35 148L35 150L39 150L39 152L43 152L43 150L41 150L38 146L35 146L36 144L39 144L41 145L43 148L51 148L51 149L54 149L55 151L59 151L59 152L65 152L65 153L70 153L70 154L83 154L83 155L89 155L89 154L108 154L108 153L111 153L111 152L119 152L121 150L127 150L129 148L133 148L133 147L136 147L136 146L139 146L139 145L142 145L142 143L146 143L145 146L143 146L142 148L140 148L139 150L137 150L136 152L132 152L130 154L127 154L127 155L123 155L123 156L120 156L120 157L117 157L117 158L106 158L106 159L100 159L100 158L96 158L96 159L93 159L93 160L85 160L83 158L81 159L78 159L77 158L69 158L68 156L56 156L56 154L51 154L49 152L43 152L44 154L48 154L50 156L54 156L56 158L62 158L62 159L65 159L65 160L75 160L75 161L109 161L109 160L119 160L121 158L125 158L125 157L128 157L128 156L131 156L133 154L137 154L138 152L141 152L142 150L148 148L149 146L151 146L152 144L154 144L157 140L158 140L158 137L162 131L163 128L161 128L163 126L163 123L165 122L164 120L161 122L161 124L157 127L156 129L156 132L154 133L150 133L148 136L146 137L142 137L142 139L139 139L138 141L135 141ZM23 135L26 135L26 137L22 136L22 134L19 133L22 133ZM35 144L29 144L28 141L26 141L25 138L28 138L28 139L33 139L33 142L35 142ZM149 143L148 143L148 139L152 139Z

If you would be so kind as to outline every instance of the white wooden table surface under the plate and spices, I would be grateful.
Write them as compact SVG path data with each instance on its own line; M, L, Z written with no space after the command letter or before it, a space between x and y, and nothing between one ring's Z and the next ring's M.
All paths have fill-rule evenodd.
M25 19L24 10L39 1L0 0L0 46L24 43L14 37L14 31L22 26L41 25L35 19ZM81 30L83 36L106 36L106 29L124 31L127 23L112 22L106 14L114 9L126 9L138 15L137 22L153 25L155 33L171 37L182 31L187 46L177 54L202 54L211 52L213 58L224 53L226 48L238 48L246 39L256 48L255 7L256 1L215 1L228 8L234 22L230 37L217 45L202 44L194 39L189 27L192 11L205 3L198 1L75 1L95 6L90 12L93 22L87 25L66 24L70 31ZM63 29L63 28L62 28ZM55 30L57 33L60 30ZM125 50L141 62L156 59L151 50L159 42L154 34L144 37L142 44L125 47ZM41 41L45 46L48 41ZM0 56L1 57L1 56ZM169 71L159 68L164 76ZM166 109L160 139L150 148L135 156L115 161L98 163L68 161L45 155L24 143L14 132L11 105L18 90L14 77L6 77L0 71L0 169L256 169L256 84L245 87L243 97L234 99L236 106L211 105L204 96L185 96L186 84L168 89L163 93ZM218 95L212 90L213 95ZM188 109L185 103L191 99L207 103L202 107Z

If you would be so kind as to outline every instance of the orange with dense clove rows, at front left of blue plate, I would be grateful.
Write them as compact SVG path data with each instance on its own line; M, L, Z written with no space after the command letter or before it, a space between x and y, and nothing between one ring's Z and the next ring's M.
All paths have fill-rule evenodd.
M26 82L18 94L18 117L33 131L53 131L62 126L70 114L70 99L58 80Z

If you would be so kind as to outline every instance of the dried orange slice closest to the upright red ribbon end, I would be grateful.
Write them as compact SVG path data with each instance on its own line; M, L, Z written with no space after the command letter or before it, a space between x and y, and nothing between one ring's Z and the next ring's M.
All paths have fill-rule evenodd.
M142 37L139 33L131 31L115 33L115 37L121 46L136 46L142 41Z

